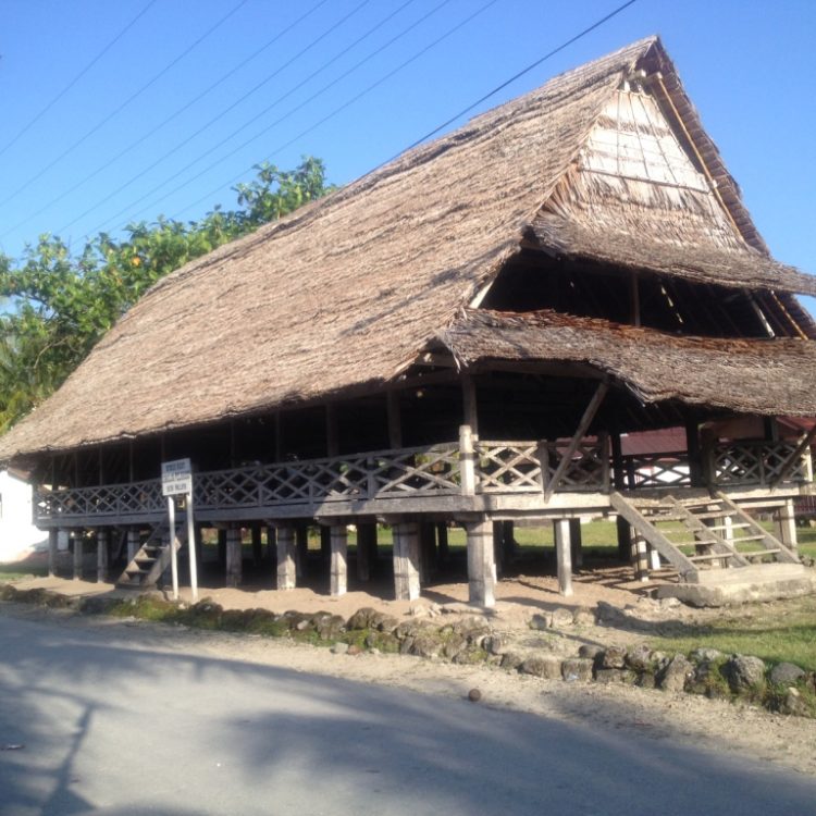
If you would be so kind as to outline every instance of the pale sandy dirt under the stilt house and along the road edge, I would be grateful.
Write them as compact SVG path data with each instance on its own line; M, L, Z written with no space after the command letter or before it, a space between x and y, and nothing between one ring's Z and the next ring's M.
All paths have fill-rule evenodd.
M91 574L91 570L86 574ZM60 578L28 579L18 585L44 586L71 595L127 593L115 590L111 584ZM598 602L609 604L639 621L652 621L655 627L704 623L721 614L713 609L692 609L652 601L647 588L633 581L631 570L626 567L578 574L574 595L570 598L557 593L553 577L517 574L499 582L496 607L487 613L467 605L467 584L460 582L434 584L423 590L422 597L412 604L386 599L388 582L373 584L371 593L354 586L353 590L343 597L332 598L324 594L321 586L281 593L250 584L246 590L210 586L202 590L201 595L224 608L263 607L279 613L287 609L304 613L326 610L348 617L361 607L371 606L396 617L432 617L444 619L445 622L463 615L485 615L495 630L507 632L522 647L545 645L549 651L565 654L574 654L581 643L609 645L638 642L644 638L643 628L595 626L588 621L554 643L549 630L535 631L530 628L533 616L546 616L567 608L594 609ZM188 590L183 590L182 594L189 599ZM470 689L479 689L482 693L479 705L509 707L584 724L589 728L626 729L638 738L651 740L670 739L687 744L703 741L724 752L784 765L804 774L816 774L816 720L770 714L758 706L617 684L544 680L484 665L459 666L369 653L349 656L285 640L157 627L137 620L122 622L78 618L55 610L17 609L14 614L62 616L66 626L146 628L154 632L157 642L163 647L193 648L207 655L272 664L360 682L457 696L467 695Z

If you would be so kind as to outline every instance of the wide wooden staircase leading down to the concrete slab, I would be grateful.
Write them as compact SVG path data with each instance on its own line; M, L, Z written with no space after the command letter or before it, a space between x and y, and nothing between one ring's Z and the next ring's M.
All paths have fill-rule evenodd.
M638 499L611 494L611 506L687 583L756 580L757 567L800 565L794 552L721 493ZM766 570L768 576L772 570Z

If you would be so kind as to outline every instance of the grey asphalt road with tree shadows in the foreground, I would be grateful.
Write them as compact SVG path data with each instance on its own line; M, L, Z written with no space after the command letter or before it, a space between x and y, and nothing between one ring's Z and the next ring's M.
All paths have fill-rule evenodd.
M3 815L816 814L816 780L716 746L203 657L172 632L0 611L0 660Z

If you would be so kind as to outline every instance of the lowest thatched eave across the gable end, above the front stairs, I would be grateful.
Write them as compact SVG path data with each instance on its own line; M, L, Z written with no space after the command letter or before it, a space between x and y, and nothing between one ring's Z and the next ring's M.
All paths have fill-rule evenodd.
M775 416L816 415L816 343L688 337L555 311L465 310L440 337L463 366L491 360L581 362L644 403Z

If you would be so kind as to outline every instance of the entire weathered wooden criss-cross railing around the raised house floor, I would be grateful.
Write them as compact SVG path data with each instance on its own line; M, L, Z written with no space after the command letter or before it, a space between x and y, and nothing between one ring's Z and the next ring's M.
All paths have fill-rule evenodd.
M251 465L197 473L195 503L200 510L314 508L343 502L422 498L446 495L609 493L610 457L606 440L583 440L562 465L567 441L470 441L460 444L376 450L325 459ZM789 443L721 445L709 456L717 486L769 485L793 450ZM685 487L691 484L688 455L625 456L627 487ZM560 471L560 472L559 472ZM553 484L555 477L558 483ZM804 465L789 481L806 478ZM165 502L158 479L96 487L41 490L35 521L71 518L160 516Z

